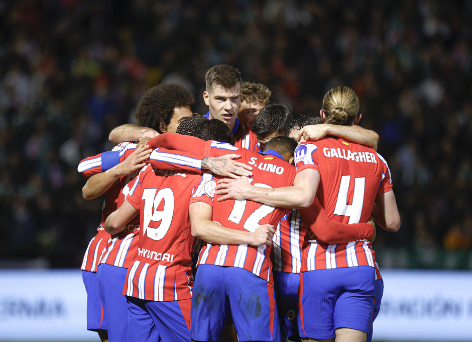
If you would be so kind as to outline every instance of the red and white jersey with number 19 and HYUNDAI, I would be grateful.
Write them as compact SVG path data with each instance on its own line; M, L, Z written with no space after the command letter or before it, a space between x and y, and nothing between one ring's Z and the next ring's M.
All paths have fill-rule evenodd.
M140 211L141 233L123 294L153 301L192 297L188 206L196 199L211 204L215 186L211 174L143 167L127 197Z

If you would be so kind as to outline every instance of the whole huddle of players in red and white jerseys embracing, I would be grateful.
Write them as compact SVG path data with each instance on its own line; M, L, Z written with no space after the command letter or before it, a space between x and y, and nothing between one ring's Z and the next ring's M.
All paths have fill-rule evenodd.
M182 85L150 88L136 125L83 159L105 194L85 252L87 329L117 341L364 342L383 293L375 222L400 217L359 97L331 89L293 119L262 84L216 65L192 113Z

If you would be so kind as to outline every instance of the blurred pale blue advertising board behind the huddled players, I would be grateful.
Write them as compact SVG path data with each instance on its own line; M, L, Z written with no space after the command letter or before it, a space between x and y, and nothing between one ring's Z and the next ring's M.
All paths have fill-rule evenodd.
M472 272L384 270L374 340L472 341ZM0 340L98 340L80 270L0 270Z

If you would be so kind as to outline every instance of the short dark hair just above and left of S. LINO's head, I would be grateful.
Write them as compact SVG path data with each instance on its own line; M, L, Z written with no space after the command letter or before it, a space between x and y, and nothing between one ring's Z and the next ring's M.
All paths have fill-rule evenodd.
M252 131L258 139L265 139L277 132L288 135L293 115L284 105L272 104L261 109L253 122Z

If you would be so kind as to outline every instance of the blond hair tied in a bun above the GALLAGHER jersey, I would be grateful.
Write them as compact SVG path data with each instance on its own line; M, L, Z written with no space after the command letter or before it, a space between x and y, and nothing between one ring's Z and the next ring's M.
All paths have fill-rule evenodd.
M323 99L327 124L351 125L359 115L359 96L349 87L335 87Z

